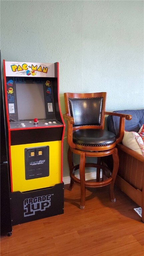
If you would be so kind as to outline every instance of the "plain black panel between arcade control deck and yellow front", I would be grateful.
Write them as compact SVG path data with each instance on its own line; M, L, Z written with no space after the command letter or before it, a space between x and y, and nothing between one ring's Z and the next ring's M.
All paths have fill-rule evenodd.
M64 127L11 131L11 146L62 140Z

